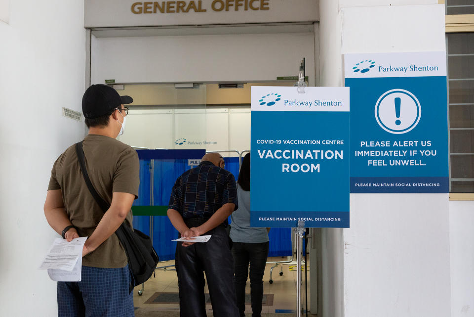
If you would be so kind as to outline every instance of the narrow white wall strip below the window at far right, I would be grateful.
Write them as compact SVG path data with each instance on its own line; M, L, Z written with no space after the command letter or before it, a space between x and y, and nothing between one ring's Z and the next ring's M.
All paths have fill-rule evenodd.
M449 202L451 317L474 317L474 201Z

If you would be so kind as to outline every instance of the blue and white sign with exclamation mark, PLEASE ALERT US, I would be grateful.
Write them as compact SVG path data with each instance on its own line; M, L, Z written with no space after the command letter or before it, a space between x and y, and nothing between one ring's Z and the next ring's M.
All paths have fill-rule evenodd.
M446 52L346 54L350 190L446 193Z

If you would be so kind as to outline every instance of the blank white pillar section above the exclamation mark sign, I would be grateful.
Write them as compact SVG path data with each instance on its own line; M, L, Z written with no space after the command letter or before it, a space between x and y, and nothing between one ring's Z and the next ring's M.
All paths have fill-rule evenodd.
M443 4L345 7L341 12L343 54L446 50Z

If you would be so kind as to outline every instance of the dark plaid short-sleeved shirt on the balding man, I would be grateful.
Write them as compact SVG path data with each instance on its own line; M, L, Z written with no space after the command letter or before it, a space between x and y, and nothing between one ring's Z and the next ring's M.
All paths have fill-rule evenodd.
M233 203L237 210L236 180L231 172L202 161L178 177L171 190L169 209L184 219L210 218L222 205Z

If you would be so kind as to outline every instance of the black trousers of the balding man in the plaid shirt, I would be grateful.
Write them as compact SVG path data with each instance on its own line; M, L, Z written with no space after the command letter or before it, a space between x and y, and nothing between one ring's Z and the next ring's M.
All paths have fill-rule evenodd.
M186 220L189 227L199 226L198 220ZM216 317L238 317L233 284L233 258L228 235L223 226L205 233L209 241L189 247L176 245L176 273L179 285L181 317L206 317L204 302L204 273Z

